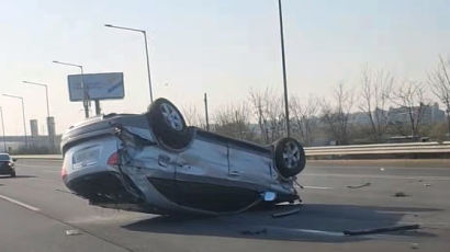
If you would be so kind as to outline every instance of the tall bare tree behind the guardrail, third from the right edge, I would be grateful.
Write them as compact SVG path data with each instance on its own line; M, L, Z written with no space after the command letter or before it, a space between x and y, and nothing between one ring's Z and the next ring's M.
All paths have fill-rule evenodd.
M394 78L384 71L372 72L368 67L361 75L361 103L359 108L370 121L370 135L381 142L389 126L386 105L390 100Z

